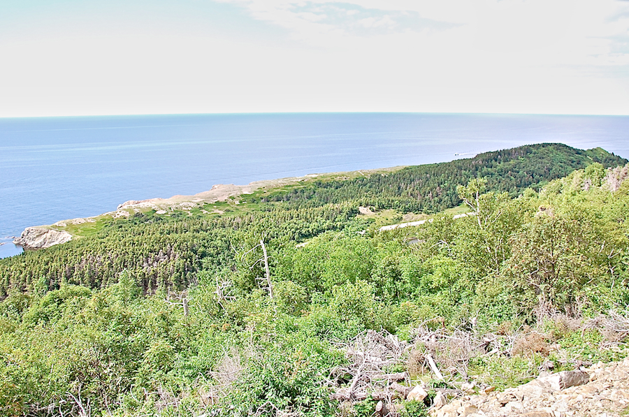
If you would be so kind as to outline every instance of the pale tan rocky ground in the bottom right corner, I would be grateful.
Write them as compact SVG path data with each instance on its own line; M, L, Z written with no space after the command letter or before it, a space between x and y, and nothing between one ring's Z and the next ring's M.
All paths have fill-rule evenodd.
M431 416L626 416L629 413L629 358L575 371L544 373L501 393L488 388L480 395L467 395L440 405L433 406Z

